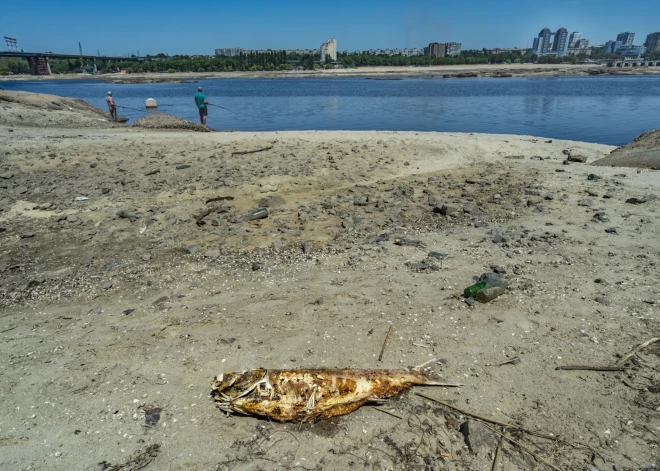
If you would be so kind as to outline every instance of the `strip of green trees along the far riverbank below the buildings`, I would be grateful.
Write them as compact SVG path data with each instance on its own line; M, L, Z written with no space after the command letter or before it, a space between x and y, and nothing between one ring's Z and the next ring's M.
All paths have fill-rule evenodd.
M488 49L466 50L457 56L402 56L368 53L340 53L337 62L345 68L372 66L438 66L438 65L471 65L471 64L576 64L590 56L536 56L530 49L493 53ZM602 57L602 48L594 48L591 57ZM617 56L608 56L617 59ZM647 53L645 58L660 60L660 51ZM248 52L235 57L226 56L168 56L157 54L146 56L143 62L136 61L97 61L100 73L125 70L127 73L141 72L247 72L293 70L302 68L314 70L318 67L332 68L330 63L321 63L320 54L288 54L286 51ZM622 59L622 57L620 57ZM51 59L51 71L54 74L80 73L80 60ZM90 64L87 64L90 65ZM0 59L0 74L29 74L30 67L25 59Z

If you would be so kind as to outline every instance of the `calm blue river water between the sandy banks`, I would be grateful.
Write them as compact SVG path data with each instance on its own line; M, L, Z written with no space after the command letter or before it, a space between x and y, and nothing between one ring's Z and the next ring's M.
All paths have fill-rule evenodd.
M81 98L106 109L108 90L134 120L154 98L159 111L198 121L204 87L208 125L222 130L388 130L525 134L623 145L660 128L660 76L529 78L210 79L107 84L92 80L0 82Z

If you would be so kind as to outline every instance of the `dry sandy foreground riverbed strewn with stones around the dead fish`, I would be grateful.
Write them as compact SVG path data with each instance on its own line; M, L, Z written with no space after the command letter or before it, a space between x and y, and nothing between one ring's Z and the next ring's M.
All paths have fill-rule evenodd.
M490 470L497 438L475 430L471 450L466 416L414 392L562 439L508 430L540 458L505 442L498 469L657 469L660 345L624 371L555 367L660 333L660 201L626 202L660 179L563 150L612 148L0 126L0 469ZM415 265L429 251L446 256ZM509 290L468 306L493 266ZM382 406L396 416L281 424L209 397L222 371L432 358L464 386L415 388Z

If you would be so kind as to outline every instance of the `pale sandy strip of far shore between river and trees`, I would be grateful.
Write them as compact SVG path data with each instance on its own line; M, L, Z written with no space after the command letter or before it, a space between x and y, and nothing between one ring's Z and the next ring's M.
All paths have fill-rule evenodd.
M5 75L0 82L26 80L101 80L110 83L175 83L206 79L274 79L274 78L335 78L335 77L561 77L598 75L660 75L660 67L613 68L579 64L481 64L432 67L360 67L357 69L333 69L315 71L272 72L156 72L141 74L103 75Z

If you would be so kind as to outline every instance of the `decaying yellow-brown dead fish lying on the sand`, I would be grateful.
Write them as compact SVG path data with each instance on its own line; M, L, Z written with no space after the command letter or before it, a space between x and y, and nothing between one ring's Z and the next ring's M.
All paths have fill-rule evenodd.
M223 411L279 421L316 422L396 396L413 385L460 386L435 381L424 370L309 369L224 373L212 395Z

